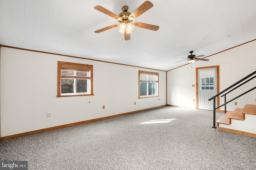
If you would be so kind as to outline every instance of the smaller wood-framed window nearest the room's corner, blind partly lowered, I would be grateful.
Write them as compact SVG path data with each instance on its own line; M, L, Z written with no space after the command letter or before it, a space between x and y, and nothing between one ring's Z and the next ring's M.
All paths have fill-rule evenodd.
M158 96L158 75L139 70L139 98Z

